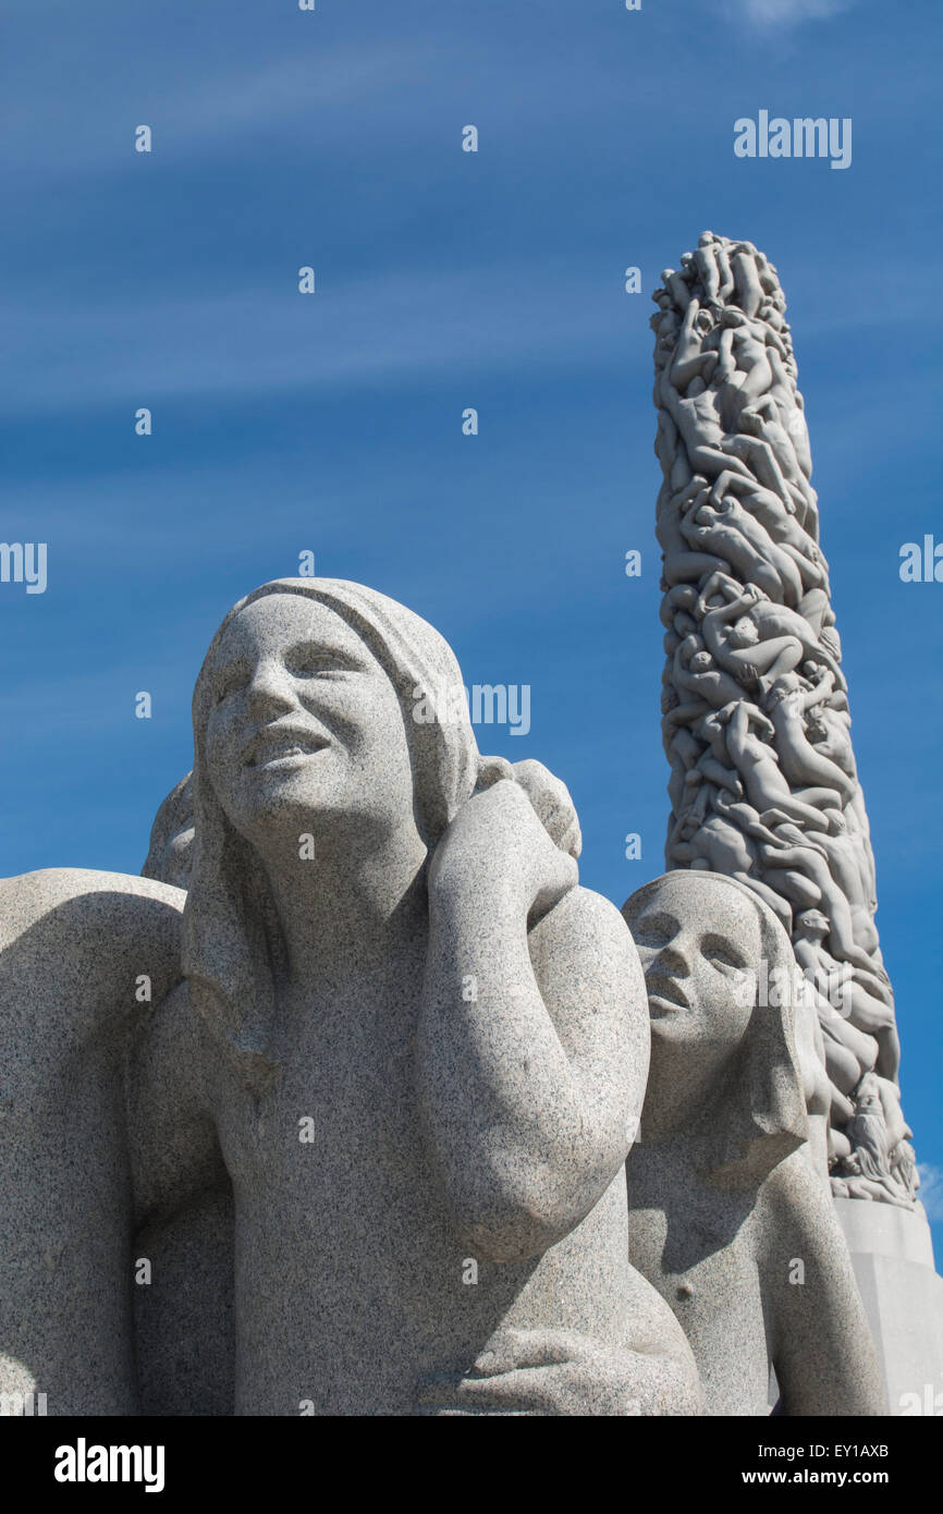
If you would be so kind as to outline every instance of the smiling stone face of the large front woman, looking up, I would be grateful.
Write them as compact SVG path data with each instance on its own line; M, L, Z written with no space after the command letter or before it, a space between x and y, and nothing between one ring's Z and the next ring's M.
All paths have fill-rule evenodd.
M204 751L232 824L260 843L342 825L389 833L413 813L397 693L360 637L298 593L268 593L230 621L207 669Z

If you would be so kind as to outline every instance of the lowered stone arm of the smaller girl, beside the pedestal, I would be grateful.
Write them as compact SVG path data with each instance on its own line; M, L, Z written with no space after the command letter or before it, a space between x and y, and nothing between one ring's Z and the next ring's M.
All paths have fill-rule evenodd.
M885 1414L875 1347L831 1195L795 1152L767 1178L760 1278L787 1416ZM796 1279L802 1263L802 1281Z

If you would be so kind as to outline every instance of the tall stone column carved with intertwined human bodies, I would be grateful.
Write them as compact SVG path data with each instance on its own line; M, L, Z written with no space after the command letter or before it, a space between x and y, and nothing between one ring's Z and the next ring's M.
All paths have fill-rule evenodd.
M833 1188L913 1208L910 1131L869 1083L898 1089L899 1042L786 300L711 232L654 300L666 861L775 911L817 992Z

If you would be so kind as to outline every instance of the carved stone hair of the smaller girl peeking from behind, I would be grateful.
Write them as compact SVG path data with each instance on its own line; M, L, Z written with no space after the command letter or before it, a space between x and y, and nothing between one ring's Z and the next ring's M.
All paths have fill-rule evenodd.
M675 871L646 883L627 901L624 917L628 928L668 881L690 880L699 898L692 908L705 910L705 889L736 889L752 905L760 925L760 955L766 960L767 983L780 990L778 1005L763 1005L760 974L757 1001L734 1054L733 1066L724 1070L717 1089L696 1119L702 1176L722 1187L758 1187L772 1169L792 1155L808 1139L808 1120L802 1093L802 1075L795 1043L798 983L796 958L789 936L769 905L734 878L724 874ZM710 907L707 905L707 917ZM758 964L757 964L758 966ZM652 1037L652 1058L657 1057ZM690 1049L698 1055L696 1045Z

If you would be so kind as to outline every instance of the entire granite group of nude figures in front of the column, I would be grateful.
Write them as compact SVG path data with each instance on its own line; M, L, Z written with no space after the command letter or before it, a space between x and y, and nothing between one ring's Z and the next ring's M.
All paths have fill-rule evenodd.
M265 584L148 877L0 884L0 1393L763 1414L775 1369L786 1413L881 1410L783 927L702 871L624 921L460 687L383 595Z

